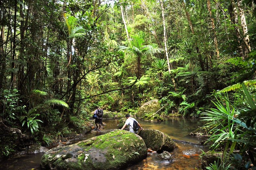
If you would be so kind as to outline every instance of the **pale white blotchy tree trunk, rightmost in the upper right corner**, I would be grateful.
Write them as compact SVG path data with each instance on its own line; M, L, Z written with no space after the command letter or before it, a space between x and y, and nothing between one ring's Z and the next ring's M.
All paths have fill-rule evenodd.
M248 35L248 28L246 25L246 20L245 20L245 15L244 15L244 9L242 8L242 0L237 0L237 6L239 9L239 15L240 15L240 20L241 20L241 26L243 28L243 33L244 33L244 42L246 47L244 48L244 54L245 57L247 57L247 54L251 51L251 46L250 46L250 39Z

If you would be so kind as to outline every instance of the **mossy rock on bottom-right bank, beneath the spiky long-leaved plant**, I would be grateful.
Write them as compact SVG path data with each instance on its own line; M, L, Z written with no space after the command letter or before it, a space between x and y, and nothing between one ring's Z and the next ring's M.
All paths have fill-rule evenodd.
M221 162L220 158L222 157L222 152L212 152L208 151L201 154L201 165L202 169L206 169L206 166L213 164L214 161Z

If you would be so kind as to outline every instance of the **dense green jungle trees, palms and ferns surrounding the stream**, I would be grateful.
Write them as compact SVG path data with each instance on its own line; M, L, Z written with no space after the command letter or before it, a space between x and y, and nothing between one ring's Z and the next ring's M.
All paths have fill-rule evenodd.
M0 8L1 157L25 139L47 145L82 128L96 106L134 115L158 99L161 117L203 117L211 127L208 143L226 154L209 169L256 166L255 1L0 0Z

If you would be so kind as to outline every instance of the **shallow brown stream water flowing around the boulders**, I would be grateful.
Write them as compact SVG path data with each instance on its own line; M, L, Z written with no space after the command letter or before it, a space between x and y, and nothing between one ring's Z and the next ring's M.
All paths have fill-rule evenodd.
M199 154L207 149L200 145L202 139L191 137L188 134L202 125L196 119L170 118L164 122L140 121L144 129L157 129L168 134L178 145L172 152L173 161L163 161L157 157L157 153L148 153L148 157L137 164L127 167L125 170L192 170L199 164ZM117 120L104 120L104 129L116 129ZM101 135L101 132L92 132L85 139ZM187 142L182 142L187 141ZM8 159L0 162L3 170L31 170L40 169L40 160L43 153L25 155L16 159Z

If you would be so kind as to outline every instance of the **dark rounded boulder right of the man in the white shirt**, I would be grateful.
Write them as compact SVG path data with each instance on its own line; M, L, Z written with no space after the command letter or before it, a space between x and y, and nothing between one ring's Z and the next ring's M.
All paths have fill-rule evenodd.
M142 137L147 148L156 152L172 152L177 147L171 137L156 129L140 130L139 136Z

